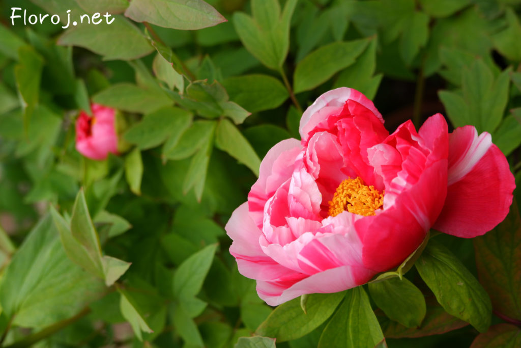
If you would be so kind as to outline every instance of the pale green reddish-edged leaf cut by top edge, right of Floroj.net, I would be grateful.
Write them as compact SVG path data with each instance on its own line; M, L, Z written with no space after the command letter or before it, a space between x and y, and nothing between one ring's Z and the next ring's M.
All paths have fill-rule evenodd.
M159 27L196 30L226 22L215 8L202 0L133 0L125 16Z

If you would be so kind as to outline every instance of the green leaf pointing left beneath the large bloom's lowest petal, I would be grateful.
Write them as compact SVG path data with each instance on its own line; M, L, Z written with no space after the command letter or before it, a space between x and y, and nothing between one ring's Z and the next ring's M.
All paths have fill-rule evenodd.
M344 293L312 294L306 303L307 314L300 306L300 298L278 306L258 327L256 334L276 338L277 342L290 341L304 336L325 322Z

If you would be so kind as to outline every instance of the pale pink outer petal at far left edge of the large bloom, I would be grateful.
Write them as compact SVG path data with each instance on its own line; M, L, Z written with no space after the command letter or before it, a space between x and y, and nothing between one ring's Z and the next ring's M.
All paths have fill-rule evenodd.
M244 277L261 280L280 280L295 277L295 272L279 265L264 254L259 245L262 233L249 217L247 203L232 213L225 230L233 240L230 254L237 259Z

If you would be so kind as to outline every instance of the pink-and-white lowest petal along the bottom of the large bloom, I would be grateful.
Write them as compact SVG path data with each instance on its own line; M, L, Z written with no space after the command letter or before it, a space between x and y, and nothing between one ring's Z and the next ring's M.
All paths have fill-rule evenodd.
M342 266L313 274L301 281L257 281L257 293L268 305L277 306L304 294L334 293L367 283L376 273L363 267Z

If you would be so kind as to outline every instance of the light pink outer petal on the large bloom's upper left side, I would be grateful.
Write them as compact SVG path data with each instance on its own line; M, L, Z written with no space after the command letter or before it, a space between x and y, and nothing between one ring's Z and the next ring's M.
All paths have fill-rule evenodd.
M248 195L250 214L259 228L262 227L266 201L291 177L295 158L301 150L299 140L286 139L272 147L264 157L259 178Z

